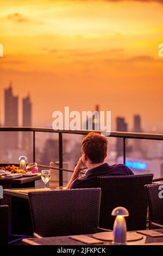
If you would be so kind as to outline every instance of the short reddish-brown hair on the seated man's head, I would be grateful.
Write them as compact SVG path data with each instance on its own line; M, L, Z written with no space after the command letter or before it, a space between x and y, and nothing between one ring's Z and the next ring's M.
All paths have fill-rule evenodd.
M82 151L89 157L92 163L104 161L108 147L105 136L96 132L90 132L82 141Z

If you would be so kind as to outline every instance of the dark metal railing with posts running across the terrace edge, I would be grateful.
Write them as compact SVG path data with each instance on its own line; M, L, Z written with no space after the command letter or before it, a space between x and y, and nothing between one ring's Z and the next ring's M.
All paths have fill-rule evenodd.
M53 130L52 128L39 128L39 127L0 127L0 132L33 132L33 162L35 162L35 133L36 132L52 132L58 133L59 136L59 168L52 168L59 170L59 186L63 185L63 171L73 172L70 169L63 168L63 143L62 143L62 135L63 134L74 134L74 135L87 135L90 131L85 130ZM101 133L103 131L95 131ZM103 132L104 134L104 132ZM0 133L1 136L1 133ZM161 134L153 134L153 133L135 133L135 132L111 132L109 136L106 137L114 137L114 138L122 138L123 139L123 163L126 164L126 139L148 139L154 141L163 141L163 135ZM40 167L48 167L43 166L42 164L38 164ZM158 178L153 181L163 180L163 178Z

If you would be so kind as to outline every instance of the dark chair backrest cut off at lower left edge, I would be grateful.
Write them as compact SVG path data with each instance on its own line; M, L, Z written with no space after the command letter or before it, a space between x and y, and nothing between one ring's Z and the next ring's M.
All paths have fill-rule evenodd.
M9 206L0 205L0 245L8 245Z

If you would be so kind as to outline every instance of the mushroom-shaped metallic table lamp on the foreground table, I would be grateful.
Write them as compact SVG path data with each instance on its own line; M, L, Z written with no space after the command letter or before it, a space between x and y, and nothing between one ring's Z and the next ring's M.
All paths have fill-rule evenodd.
M124 207L117 207L111 212L112 216L116 216L113 227L113 243L114 245L126 245L127 226L124 217L129 216L129 212Z

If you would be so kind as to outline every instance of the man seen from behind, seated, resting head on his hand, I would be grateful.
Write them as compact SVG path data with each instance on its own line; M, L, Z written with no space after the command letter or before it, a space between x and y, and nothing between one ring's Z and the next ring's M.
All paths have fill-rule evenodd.
M104 163L107 156L108 141L99 133L90 132L82 141L82 157L80 157L67 188L97 187L99 175L133 175L124 164L110 166ZM87 169L85 174L80 172Z

